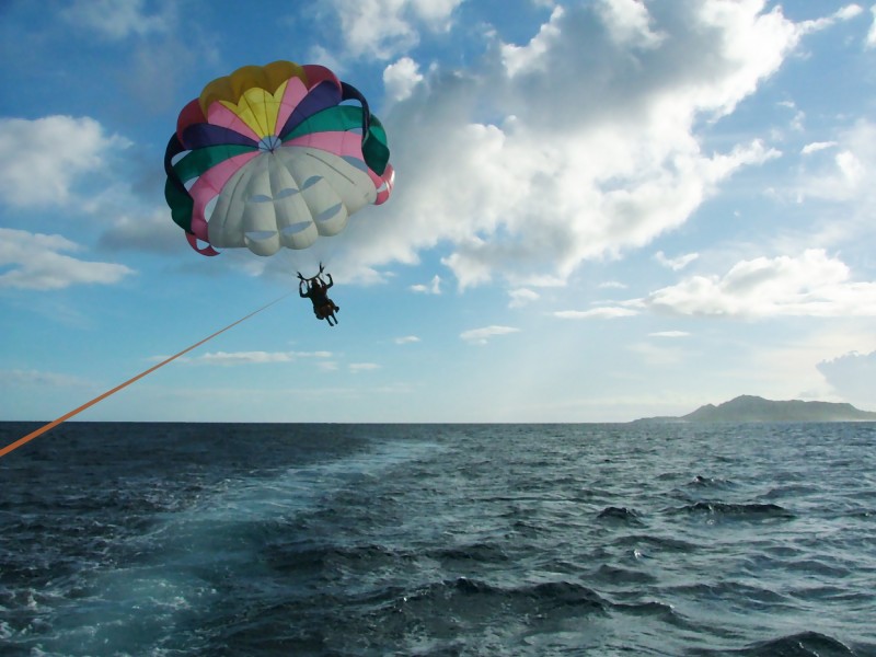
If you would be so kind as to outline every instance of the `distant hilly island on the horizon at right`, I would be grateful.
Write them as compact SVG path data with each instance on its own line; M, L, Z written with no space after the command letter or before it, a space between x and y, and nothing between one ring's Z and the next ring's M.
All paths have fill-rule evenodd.
M852 404L831 402L803 402L791 400L774 402L744 394L715 406L706 404L693 413L679 417L643 417L643 423L712 423L712 422L876 422L876 413L860 411Z

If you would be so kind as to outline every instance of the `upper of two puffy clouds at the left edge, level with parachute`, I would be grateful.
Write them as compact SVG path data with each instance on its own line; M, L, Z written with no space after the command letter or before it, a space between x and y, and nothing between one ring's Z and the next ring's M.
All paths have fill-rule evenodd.
M0 198L22 207L66 204L112 149L128 146L89 117L0 118Z

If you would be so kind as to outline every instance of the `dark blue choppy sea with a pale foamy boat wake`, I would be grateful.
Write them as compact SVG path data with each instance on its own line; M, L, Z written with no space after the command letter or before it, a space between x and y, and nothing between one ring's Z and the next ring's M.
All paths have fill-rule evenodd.
M0 655L876 655L876 425L68 423Z

